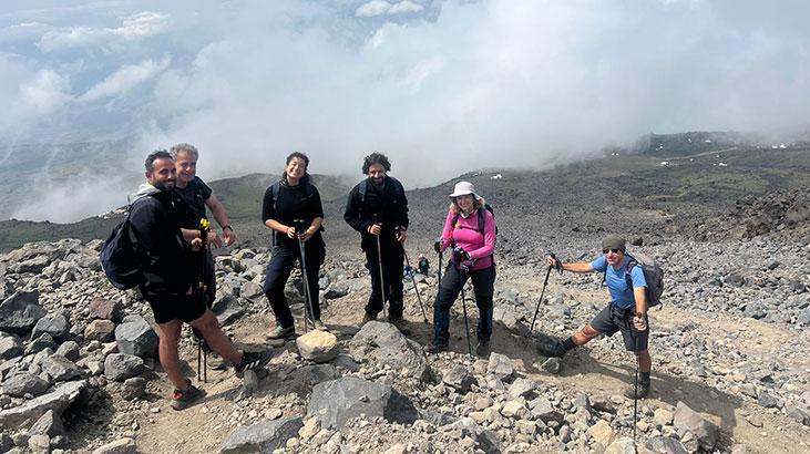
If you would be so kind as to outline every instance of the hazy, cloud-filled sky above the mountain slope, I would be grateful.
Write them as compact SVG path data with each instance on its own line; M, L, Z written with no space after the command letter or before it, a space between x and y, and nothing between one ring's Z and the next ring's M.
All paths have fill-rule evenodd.
M279 172L291 151L359 178L382 151L413 187L649 132L803 127L809 17L807 1L3 0L0 142L135 136L136 157L191 142L209 179Z

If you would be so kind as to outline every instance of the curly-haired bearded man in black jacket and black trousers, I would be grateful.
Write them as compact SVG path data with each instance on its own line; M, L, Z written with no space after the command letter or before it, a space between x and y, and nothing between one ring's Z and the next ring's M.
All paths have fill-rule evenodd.
M362 173L368 177L351 189L344 214L346 223L361 235L360 247L366 252L366 267L371 275L371 295L363 322L377 319L383 309L382 285L389 305L389 321L402 320L402 244L408 238L408 199L402 184L387 175L390 169L386 155L371 153L366 156Z

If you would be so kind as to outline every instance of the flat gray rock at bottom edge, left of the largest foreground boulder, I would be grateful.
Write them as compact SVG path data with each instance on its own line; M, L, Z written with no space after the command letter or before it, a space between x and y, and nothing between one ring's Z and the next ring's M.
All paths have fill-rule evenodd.
M304 426L300 416L278 421L263 421L234 431L225 441L223 454L270 453L286 447L287 440L298 436Z

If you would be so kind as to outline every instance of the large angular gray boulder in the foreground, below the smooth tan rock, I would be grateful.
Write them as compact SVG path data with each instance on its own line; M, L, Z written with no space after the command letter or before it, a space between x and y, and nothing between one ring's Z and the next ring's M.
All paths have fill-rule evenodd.
M307 416L318 416L321 427L341 429L346 421L360 414L402 424L419 419L411 401L386 384L345 376L312 389Z

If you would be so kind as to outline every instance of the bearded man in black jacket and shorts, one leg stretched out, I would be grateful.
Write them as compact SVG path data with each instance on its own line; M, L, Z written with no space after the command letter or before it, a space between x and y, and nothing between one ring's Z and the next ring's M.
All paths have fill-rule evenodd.
M236 350L207 308L205 297L194 291L188 241L198 248L202 240L184 237L181 231L176 207L181 202L172 194L177 179L174 159L161 149L150 154L145 165L147 183L130 197L130 228L139 240L144 278L139 289L157 323L161 365L175 388L172 407L183 410L205 395L181 369L177 345L183 322L198 329L211 349L234 364L237 374L264 368L271 355Z

